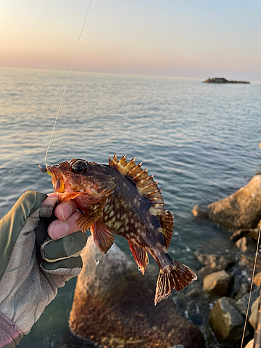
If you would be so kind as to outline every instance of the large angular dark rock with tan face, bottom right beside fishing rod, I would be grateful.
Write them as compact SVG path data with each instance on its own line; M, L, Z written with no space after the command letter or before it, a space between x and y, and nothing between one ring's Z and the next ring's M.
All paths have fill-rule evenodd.
M210 311L209 325L219 343L237 345L242 340L244 317L235 308L233 300L228 297L222 297L216 301ZM246 326L246 336L248 334L249 330Z

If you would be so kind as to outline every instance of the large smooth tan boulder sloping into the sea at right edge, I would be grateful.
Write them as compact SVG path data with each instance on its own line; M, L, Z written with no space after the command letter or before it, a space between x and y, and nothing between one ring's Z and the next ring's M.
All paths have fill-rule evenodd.
M232 195L207 205L209 219L228 228L255 228L261 216L261 175Z

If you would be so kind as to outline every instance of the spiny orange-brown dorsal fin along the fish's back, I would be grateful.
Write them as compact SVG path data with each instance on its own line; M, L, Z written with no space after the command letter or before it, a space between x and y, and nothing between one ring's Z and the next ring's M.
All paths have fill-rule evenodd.
M164 197L161 196L161 190L157 186L158 183L153 180L153 175L149 176L148 169L143 170L141 163L136 165L135 159L136 157L128 162L126 155L124 155L118 160L115 154L112 160L109 158L109 166L116 168L119 173L134 182L139 193L150 201L154 214L159 218L161 231L164 235L164 244L168 248L173 234L174 216L164 208Z

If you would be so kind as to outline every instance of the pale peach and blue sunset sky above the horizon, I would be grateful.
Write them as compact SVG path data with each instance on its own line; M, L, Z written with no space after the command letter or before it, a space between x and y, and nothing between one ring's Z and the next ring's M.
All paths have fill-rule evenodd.
M0 67L69 70L90 0L0 0ZM261 0L93 0L73 70L261 81Z

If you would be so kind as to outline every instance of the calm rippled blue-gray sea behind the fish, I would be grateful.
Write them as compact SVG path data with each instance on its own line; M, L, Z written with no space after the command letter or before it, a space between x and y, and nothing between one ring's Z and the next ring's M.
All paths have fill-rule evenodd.
M67 76L0 69L0 218L24 191L53 191L38 164L44 164ZM231 244L226 228L193 217L193 205L224 198L261 172L260 97L258 82L72 72L47 163L136 157L175 216L171 257L196 269L196 251L213 253L219 245L230 253ZM116 244L132 257L124 238ZM59 290L19 347L63 342L74 286L72 279Z

